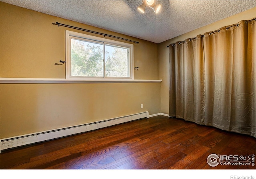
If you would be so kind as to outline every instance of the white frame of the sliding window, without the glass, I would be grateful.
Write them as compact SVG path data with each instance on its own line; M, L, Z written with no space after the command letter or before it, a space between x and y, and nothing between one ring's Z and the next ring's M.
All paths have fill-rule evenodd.
M103 77L73 77L71 76L71 39L77 38L77 39L84 39L84 40L93 40L93 41L99 41L103 42L104 44L107 43L108 45L116 45L120 47L126 47L130 50L130 77L105 77L105 68L104 68L104 76ZM134 80L134 71L133 71L133 44L130 43L124 43L120 41L105 39L101 37L96 37L92 35L86 35L83 33L78 33L74 31L68 31L66 30L66 37L65 37L65 43L66 43L66 80L69 81L129 81ZM103 48L104 51L104 48ZM105 66L105 51L104 51L104 66Z

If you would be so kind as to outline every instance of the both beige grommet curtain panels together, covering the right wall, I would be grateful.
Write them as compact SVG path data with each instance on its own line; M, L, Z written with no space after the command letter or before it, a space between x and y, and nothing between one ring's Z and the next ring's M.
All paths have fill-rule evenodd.
M177 118L256 137L255 24L175 44Z

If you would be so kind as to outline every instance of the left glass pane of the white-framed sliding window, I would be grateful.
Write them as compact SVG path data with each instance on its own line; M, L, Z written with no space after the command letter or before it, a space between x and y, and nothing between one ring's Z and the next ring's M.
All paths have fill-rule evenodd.
M71 76L103 77L103 44L71 39Z

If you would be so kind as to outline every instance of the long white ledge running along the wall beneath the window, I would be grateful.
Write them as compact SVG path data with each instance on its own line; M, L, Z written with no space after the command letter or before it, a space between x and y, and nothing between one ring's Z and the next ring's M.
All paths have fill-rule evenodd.
M0 78L0 84L33 83L161 83L162 80L66 80L55 78Z

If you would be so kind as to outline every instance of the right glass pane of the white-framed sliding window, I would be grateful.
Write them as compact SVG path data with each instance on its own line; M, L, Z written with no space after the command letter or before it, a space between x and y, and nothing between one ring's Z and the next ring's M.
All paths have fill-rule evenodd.
M105 45L106 77L130 77L129 48Z

